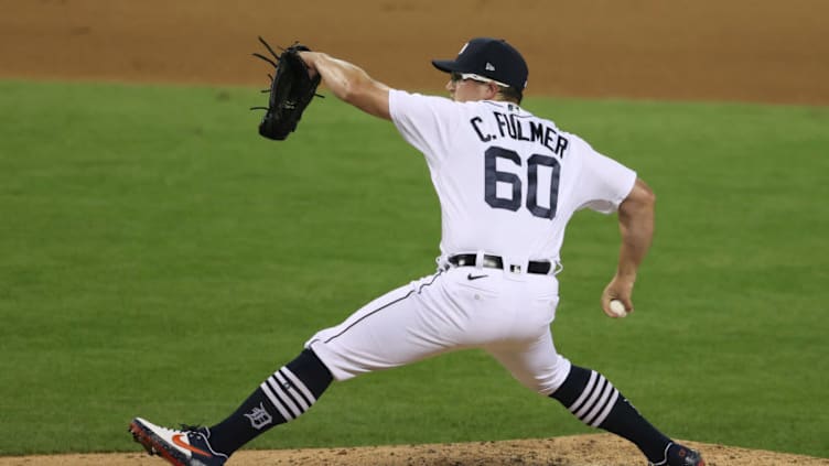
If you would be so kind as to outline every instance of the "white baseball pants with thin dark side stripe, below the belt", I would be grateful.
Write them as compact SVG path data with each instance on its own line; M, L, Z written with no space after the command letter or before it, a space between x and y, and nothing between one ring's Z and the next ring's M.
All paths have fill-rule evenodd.
M481 348L524 386L548 395L570 371L550 332L557 304L555 275L451 267L386 293L305 346L341 381Z

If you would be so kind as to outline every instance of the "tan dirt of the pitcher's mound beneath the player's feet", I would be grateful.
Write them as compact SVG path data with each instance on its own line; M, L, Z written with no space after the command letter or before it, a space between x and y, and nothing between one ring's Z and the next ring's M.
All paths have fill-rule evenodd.
M700 448L709 466L829 466L829 459L723 445L687 442ZM141 447L136 444L136 448ZM0 457L0 466L160 466L157 457L140 453ZM432 445L368 446L241 451L229 465L302 466L629 466L646 462L631 443L610 434L542 440L473 442Z

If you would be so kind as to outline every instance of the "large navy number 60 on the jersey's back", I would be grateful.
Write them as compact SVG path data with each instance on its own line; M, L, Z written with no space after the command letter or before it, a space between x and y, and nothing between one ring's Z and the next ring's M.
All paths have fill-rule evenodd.
M484 199L486 204L494 208L505 208L507 210L516 212L521 207L521 178L515 173L499 172L497 167L497 160L504 159L515 163L517 166L521 166L521 158L517 152L492 147L484 152L484 176L486 181ZM550 173L550 193L549 193L549 207L538 205L538 172L539 166L546 166L549 170L545 172ZM540 218L555 218L556 217L556 204L558 204L559 197L559 174L561 173L561 164L557 159L548 155L532 154L527 159L527 209L530 214ZM509 197L498 197L496 186L498 183L506 183L512 185L512 194Z

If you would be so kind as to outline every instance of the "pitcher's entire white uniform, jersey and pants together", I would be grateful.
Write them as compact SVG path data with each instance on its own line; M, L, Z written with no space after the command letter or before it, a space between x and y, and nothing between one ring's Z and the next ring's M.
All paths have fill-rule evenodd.
M558 281L526 265L558 261L573 212L615 210L636 174L513 104L390 90L389 108L403 138L426 155L438 191L441 267L306 346L336 380L482 348L526 387L552 393L571 367L550 332ZM451 267L446 259L459 253L499 256L504 265Z

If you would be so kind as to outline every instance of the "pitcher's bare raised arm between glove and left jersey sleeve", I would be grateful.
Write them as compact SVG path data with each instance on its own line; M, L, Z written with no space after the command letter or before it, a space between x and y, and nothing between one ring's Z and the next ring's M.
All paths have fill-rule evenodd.
M337 98L386 120L389 113L389 87L372 78L360 67L321 52L302 52L311 73L319 73Z

